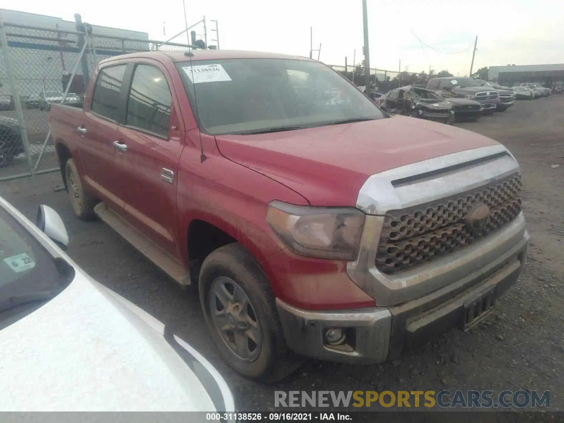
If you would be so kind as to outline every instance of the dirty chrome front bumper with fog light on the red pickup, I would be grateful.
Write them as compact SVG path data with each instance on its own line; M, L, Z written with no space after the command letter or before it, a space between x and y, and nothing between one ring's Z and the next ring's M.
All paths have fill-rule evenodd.
M276 299L284 336L290 349L304 356L345 363L381 363L405 348L421 346L435 335L465 321L464 305L484 290L501 296L517 281L527 254L525 233L512 249L487 266L452 281L426 296L396 306L345 311L300 310ZM345 343L325 342L331 328L342 328Z

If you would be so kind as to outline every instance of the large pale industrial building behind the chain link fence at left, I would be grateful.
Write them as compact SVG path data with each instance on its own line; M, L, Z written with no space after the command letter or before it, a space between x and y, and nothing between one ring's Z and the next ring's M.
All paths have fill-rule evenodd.
M20 96L37 96L42 91L64 91L65 82L76 65L81 41L74 21L60 17L0 9L0 21L8 41L14 78ZM87 21L87 19L85 19ZM100 27L92 28L93 49L87 49L83 65L77 71L77 80L85 81L96 64L105 58L133 51L149 50L146 32ZM73 91L81 94L81 87ZM78 92L81 91L81 92ZM11 95L5 52L0 52L0 95Z

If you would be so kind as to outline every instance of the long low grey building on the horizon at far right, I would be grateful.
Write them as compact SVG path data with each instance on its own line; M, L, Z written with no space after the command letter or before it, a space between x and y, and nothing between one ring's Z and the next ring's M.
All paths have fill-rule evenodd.
M508 87L536 82L548 88L564 86L564 64L490 66L488 79Z

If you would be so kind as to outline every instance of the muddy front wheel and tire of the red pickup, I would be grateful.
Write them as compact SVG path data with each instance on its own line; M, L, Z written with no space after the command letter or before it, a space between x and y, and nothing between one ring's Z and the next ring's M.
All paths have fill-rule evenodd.
M226 290L221 290L223 287L229 295ZM222 301L218 299L217 289L222 292L219 294L223 296ZM243 309L235 307L241 303L235 301L237 297L241 299L239 290L248 301L248 306ZM303 359L295 356L286 345L274 293L265 272L243 245L224 245L206 257L200 271L199 292L211 337L223 359L236 372L255 381L270 383L287 376L302 364ZM210 298L214 301L210 302ZM212 307L214 316L220 314L219 317L212 315ZM250 322L258 331L249 325ZM244 329L240 329L239 324ZM220 325L227 327L226 331L220 332ZM249 331L256 343L250 336L245 338ZM236 339L246 346L238 349Z

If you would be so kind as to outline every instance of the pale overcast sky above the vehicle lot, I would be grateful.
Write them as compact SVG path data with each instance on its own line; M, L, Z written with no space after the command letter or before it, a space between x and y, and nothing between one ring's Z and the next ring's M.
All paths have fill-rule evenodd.
M184 27L182 0L69 1L0 0L15 9L95 25L148 32L166 39ZM202 19L219 24L221 49L274 51L308 56L310 27L320 60L344 65L363 59L361 0L186 0L188 25ZM163 25L164 32L163 34ZM208 21L208 43L215 23ZM474 70L491 65L564 62L564 2L548 0L411 1L368 0L371 67L410 72L447 69L467 74L478 36ZM204 33L202 25L195 28ZM417 37L421 40L418 41ZM186 42L186 36L174 41ZM425 46L427 45L427 46ZM435 51L431 49L438 50ZM439 52L440 51L440 52ZM316 58L317 52L314 52Z

